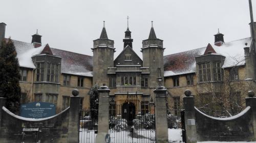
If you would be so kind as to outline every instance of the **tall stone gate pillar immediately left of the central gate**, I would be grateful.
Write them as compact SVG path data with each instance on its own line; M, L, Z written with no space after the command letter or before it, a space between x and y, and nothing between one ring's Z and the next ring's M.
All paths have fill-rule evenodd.
M99 110L98 110L98 134L96 143L106 142L109 136L109 93L110 89L107 86L102 86L98 89L99 93Z

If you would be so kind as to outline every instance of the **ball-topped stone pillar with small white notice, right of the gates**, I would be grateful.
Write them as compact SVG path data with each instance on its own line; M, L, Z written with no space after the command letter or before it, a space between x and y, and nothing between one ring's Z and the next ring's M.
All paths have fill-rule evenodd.
M186 97L183 97L184 106L184 118L185 118L185 130L186 130L186 142L195 143L197 142L197 128L196 128L196 114L195 114L195 101L194 97L191 96L191 91L186 90Z

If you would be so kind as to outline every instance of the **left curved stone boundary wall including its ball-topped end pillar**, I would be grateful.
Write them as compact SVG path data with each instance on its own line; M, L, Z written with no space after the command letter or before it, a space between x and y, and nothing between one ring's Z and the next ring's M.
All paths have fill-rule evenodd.
M72 91L70 107L55 116L32 119L15 115L6 107L6 98L0 94L0 142L77 143L79 141L80 97Z

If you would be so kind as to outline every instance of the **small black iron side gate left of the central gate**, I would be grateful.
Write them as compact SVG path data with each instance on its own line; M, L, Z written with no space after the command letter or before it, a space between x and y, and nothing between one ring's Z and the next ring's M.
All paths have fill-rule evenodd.
M79 143L94 143L98 133L98 117L92 116L96 109L79 110Z

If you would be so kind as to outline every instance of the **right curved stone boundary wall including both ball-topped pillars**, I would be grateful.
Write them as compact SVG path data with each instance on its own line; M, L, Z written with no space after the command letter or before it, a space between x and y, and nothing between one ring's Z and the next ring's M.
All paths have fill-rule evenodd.
M194 105L191 91L185 91L183 98L186 142L197 141L256 141L256 98L248 92L246 108L238 115L228 118L211 117Z

